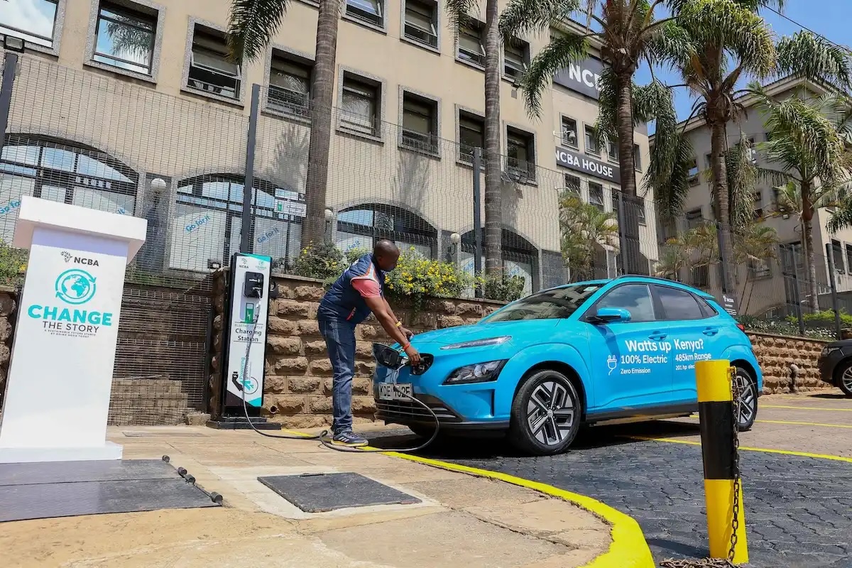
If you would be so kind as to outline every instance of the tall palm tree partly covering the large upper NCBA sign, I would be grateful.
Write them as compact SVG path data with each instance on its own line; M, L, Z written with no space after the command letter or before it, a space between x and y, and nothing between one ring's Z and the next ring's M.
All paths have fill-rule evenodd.
M655 20L654 13L669 0L511 0L500 17L504 37L521 33L545 32L555 22L573 14L585 15L586 26L579 32L557 24L560 33L551 37L544 49L530 63L521 81L527 112L531 118L541 114L541 98L557 72L568 63L588 56L590 43L599 43L601 56L609 65L601 77L600 112L596 135L600 141L618 140L621 192L628 201L627 211L636 206L636 169L633 153L634 129L639 122L656 118L658 113L674 118L671 95L662 83L654 80L639 87L633 75L643 60L649 63L668 57L672 50L682 49L682 32L672 18ZM600 15L598 15L600 14ZM600 31L590 27L594 21ZM665 118L664 118L665 119ZM653 176L654 180L668 176ZM632 205L632 206L631 206ZM622 249L629 262L630 273L645 272L638 250L639 219L625 215L622 227ZM625 238L628 236L628 238Z

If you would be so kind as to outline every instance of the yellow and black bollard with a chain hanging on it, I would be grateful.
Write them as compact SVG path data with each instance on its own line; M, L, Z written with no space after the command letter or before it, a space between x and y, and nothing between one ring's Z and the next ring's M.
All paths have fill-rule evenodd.
M734 384L728 361L698 361L698 409L710 556L748 562L746 514L737 458Z

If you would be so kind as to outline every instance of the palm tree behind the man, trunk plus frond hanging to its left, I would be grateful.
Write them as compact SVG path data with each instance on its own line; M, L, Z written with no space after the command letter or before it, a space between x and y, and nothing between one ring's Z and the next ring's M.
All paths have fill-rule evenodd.
M316 55L311 78L311 134L308 145L308 175L305 181L307 212L302 243L325 240L325 187L331 148L331 112L337 60L337 24L341 3L319 0ZM228 45L233 60L256 60L278 31L288 0L233 0L228 22Z

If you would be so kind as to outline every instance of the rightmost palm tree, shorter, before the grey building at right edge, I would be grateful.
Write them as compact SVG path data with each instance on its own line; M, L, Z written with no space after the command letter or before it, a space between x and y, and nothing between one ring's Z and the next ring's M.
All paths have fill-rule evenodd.
M846 145L852 106L844 96L775 100L759 85L749 85L763 112L769 141L757 145L768 168L758 169L777 192L773 215L795 215L802 225L802 245L809 267L809 307L818 309L813 220L815 212L837 201L849 180L852 152Z

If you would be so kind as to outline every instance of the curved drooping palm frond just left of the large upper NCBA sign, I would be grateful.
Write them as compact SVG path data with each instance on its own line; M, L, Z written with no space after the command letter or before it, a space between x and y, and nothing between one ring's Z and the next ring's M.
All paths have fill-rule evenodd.
M553 37L530 61L529 69L521 77L521 91L527 114L530 118L541 115L541 97L544 89L556 72L565 69L569 63L583 60L589 53L589 39L576 33L560 34Z

